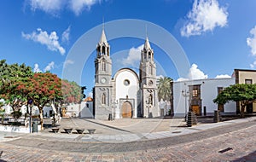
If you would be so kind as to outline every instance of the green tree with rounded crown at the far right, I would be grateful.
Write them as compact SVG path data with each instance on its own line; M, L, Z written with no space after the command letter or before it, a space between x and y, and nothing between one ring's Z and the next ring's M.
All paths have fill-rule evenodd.
M248 104L256 101L256 84L235 84L225 88L213 100L214 103L225 104L229 101L238 101L241 105L241 117Z

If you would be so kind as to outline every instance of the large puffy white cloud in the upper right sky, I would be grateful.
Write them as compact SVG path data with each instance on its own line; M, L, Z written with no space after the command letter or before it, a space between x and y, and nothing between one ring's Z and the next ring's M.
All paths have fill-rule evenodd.
M193 9L187 14L188 20L181 29L181 35L189 37L201 35L202 32L212 32L217 26L227 26L227 18L226 8L220 7L217 0L195 0Z

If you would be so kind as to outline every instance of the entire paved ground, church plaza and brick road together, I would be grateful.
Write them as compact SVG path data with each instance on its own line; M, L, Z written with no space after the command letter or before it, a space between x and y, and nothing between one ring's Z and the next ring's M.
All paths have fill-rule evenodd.
M115 120L112 123L84 121L84 124L88 122L89 124L85 126L79 119L71 119L69 122L61 120L68 122L69 126L76 125L79 128L93 126L96 128L96 134L54 134L44 130L37 134L17 136L18 138L13 141L0 143L0 152L3 151L0 159L6 161L253 161L256 159L255 118L199 124L192 128L183 127L182 119L163 119L161 122L160 119L148 119L147 122L145 119ZM68 123L65 126L68 126ZM116 142L119 135L124 137ZM126 136L134 137L133 135L139 138L127 140Z

